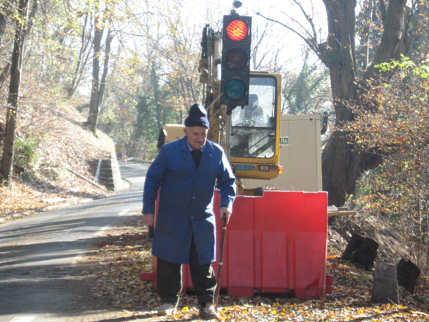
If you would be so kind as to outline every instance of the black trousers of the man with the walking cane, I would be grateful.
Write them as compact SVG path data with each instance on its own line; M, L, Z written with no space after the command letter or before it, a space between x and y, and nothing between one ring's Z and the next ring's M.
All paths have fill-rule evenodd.
M198 305L205 307L206 303L213 304L216 289L215 272L211 263L199 264L193 237L189 254L189 270L198 297ZM177 305L181 289L181 264L158 258L157 294L161 298L161 303Z

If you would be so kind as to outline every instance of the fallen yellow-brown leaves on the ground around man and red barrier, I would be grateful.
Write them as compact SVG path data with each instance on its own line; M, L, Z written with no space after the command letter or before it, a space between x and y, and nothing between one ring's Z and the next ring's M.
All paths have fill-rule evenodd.
M120 316L151 321L198 320L196 296L181 295L174 316L156 316L161 305L151 282L140 272L152 270L151 239L139 225L119 236L103 237L96 250L106 260L98 262L94 298L103 299ZM329 230L327 273L334 277L332 294L323 299L299 300L288 295L255 292L254 298L220 295L218 310L225 322L268 321L429 321L428 302L399 290L399 304L371 303L372 272L341 260L346 243ZM94 320L95 321L95 320Z

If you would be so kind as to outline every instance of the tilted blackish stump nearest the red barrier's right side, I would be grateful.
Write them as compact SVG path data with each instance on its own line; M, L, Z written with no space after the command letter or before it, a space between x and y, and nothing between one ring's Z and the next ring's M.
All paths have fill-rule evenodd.
M375 240L353 234L344 250L342 259L350 261L357 267L363 267L365 270L372 270L377 257L377 249L378 243Z

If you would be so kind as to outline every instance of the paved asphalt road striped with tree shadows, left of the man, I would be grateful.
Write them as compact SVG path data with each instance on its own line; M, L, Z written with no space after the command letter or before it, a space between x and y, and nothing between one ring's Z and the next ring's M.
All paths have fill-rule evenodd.
M0 226L1 322L23 314L43 316L34 322L45 321L44 316L48 315L53 315L55 321L67 322L87 320L87 316L94 321L129 320L124 316L113 318L118 315L115 311L124 305L122 301L95 295L100 292L97 286L100 276L111 265L117 265L115 259L127 252L124 247L112 245L125 245L122 236L126 236L123 240L127 238L127 243L143 239L142 230L136 228L141 228L142 219L136 213L141 210L145 169L130 165L121 167L121 174L136 182L133 188L88 204L39 213ZM148 252L146 246L145 252ZM132 280L139 281L140 268L136 267ZM107 279L108 288L111 281ZM121 292L118 287L112 288L114 296L118 292ZM140 311L149 310L143 303L137 307ZM139 316L149 317L153 321L151 314Z

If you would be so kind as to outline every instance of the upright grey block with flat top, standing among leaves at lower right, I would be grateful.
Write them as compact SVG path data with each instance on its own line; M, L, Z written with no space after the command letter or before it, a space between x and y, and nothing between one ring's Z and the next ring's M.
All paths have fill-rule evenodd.
M396 265L380 262L375 264L371 302L398 304Z

